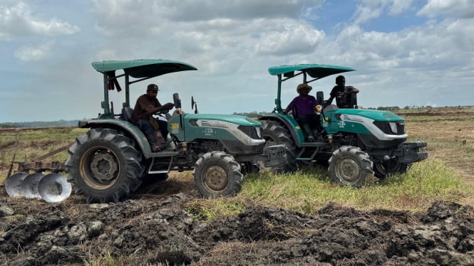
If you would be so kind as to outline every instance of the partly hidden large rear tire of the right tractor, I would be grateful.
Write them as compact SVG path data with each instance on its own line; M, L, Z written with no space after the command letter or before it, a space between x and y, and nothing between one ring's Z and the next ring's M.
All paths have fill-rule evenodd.
M284 144L287 147L287 163L283 166L272 167L275 173L292 173L297 171L297 146L294 144L292 134L281 123L272 120L262 121L262 137L265 139L265 146L269 147L277 144Z

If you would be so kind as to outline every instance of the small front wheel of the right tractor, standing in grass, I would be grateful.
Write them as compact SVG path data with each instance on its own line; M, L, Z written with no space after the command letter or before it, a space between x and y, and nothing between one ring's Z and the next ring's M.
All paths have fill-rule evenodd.
M364 151L354 146L336 149L329 159L331 181L360 188L373 175L373 163Z

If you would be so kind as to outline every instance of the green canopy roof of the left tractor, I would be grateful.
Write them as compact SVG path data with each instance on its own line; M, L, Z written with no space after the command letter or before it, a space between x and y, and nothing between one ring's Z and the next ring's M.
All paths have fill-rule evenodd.
M153 78L173 72L197 70L187 63L163 59L110 60L93 62L92 66L101 73L123 70L133 78Z

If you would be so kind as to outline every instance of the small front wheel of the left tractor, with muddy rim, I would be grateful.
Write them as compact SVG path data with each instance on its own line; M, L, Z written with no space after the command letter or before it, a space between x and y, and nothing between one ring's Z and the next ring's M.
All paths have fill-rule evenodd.
M196 161L194 183L204 198L234 196L242 189L243 175L234 157L224 151L207 152Z

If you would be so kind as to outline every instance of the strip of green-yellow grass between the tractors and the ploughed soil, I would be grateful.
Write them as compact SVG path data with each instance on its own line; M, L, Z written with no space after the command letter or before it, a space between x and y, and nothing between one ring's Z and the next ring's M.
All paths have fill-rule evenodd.
M458 201L470 193L462 176L442 161L427 159L413 164L405 174L375 177L362 188L331 183L326 169L309 166L295 174L249 174L242 191L232 198L197 199L187 206L195 218L213 220L235 215L249 203L275 206L314 215L329 202L358 209L426 211L433 201Z

